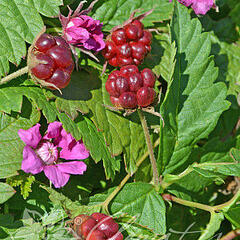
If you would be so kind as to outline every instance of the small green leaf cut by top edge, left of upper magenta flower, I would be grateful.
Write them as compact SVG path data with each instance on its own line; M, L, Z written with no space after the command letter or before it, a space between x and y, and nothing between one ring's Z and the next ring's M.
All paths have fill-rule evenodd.
M46 17L58 16L59 6L63 5L62 0L31 0L39 13Z

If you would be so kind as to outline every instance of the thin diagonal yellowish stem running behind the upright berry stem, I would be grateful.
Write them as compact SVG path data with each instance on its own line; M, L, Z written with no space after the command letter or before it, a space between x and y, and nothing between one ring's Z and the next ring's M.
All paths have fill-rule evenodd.
M154 148L159 145L160 140L158 139L154 143ZM149 155L148 152L146 152L136 163L137 168L142 164L142 162L147 158ZM137 171L137 170L136 170ZM132 174L128 173L125 178L120 182L120 184L113 190L113 192L107 197L107 199L103 202L102 206L106 212L108 212L107 207L109 203L112 201L112 199L118 194L118 192L122 189L122 187L126 184L126 182L129 180L129 178L136 172L134 171Z

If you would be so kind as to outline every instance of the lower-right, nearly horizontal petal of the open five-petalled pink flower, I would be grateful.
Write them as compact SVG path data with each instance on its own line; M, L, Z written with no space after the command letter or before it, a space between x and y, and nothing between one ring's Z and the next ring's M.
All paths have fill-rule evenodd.
M82 175L87 170L87 165L81 161L72 161L56 164L57 168L64 173Z

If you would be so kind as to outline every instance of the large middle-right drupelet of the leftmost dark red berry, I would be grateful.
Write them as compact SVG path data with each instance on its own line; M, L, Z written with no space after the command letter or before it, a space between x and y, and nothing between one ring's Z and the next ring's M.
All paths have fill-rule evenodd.
M54 59L56 65L61 68L68 67L73 62L71 52L60 46L50 48L47 54Z

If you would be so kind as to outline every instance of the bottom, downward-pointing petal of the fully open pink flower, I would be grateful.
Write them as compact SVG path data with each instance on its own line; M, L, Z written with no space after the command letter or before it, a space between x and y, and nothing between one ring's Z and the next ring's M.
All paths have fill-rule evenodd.
M43 171L55 188L63 187L70 178L69 174L61 172L56 165L45 166Z

